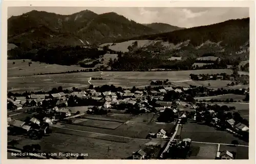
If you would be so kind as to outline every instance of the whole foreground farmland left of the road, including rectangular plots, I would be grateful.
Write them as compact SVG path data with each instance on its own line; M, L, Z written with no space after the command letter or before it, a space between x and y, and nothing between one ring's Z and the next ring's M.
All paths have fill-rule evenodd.
M30 140L23 136L9 135L8 141L21 138L17 148L39 144L41 152L88 153L87 159L121 159L131 156L133 151L143 149L145 144L159 143L159 141L149 143L150 140L145 139L148 132L157 132L160 128L170 131L174 127L173 123L155 123L154 120L157 117L153 116L153 114L139 116L116 113L110 113L106 116L86 114L82 116L83 118L72 119L80 125L67 123L53 125L51 127L53 133L41 140ZM115 122L118 120L125 123ZM147 124L147 120L148 122L153 121ZM91 125L98 127L90 127ZM121 126L114 129L116 125ZM104 129L106 127L113 129ZM108 148L110 148L110 155L107 154Z

